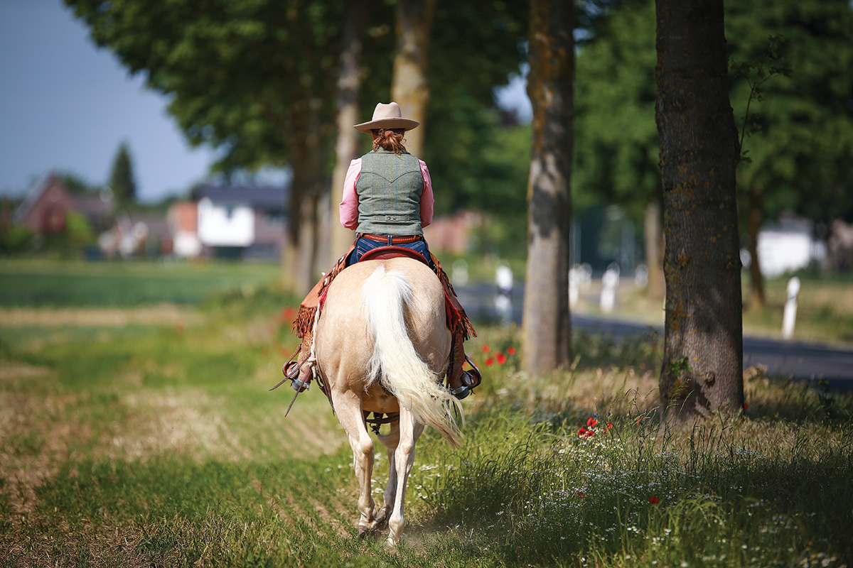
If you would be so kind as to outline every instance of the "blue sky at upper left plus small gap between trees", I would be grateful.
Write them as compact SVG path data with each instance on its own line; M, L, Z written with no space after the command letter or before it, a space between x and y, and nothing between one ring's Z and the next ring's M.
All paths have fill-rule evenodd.
M0 0L0 193L21 194L50 171L106 183L122 141L142 201L205 179L212 150L190 148L166 98L143 83L61 0ZM529 113L523 81L499 98Z

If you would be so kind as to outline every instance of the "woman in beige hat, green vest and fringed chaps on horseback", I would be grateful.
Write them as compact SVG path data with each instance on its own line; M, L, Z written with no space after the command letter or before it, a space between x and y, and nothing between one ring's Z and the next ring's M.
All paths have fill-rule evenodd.
M297 391L305 390L310 382L314 361L310 358L313 324L322 292L344 267L361 260L362 256L381 246L403 246L423 255L429 267L444 284L448 300L448 325L453 332L450 368L447 372L450 392L464 399L480 383L479 370L467 360L463 342L474 336L447 275L429 252L423 237L423 227L432 222L432 180L423 160L406 152L403 135L418 122L403 118L396 102L379 103L373 119L356 124L355 129L373 136L373 151L352 160L344 181L344 198L339 206L340 222L357 233L356 242L341 257L335 267L316 284L299 307L293 330L302 338L302 345L282 371L293 381ZM462 370L465 362L471 370Z

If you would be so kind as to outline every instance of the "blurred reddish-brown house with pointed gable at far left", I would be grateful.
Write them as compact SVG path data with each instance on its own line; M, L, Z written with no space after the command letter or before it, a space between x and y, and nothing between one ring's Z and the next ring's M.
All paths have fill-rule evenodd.
M113 216L113 198L108 192L73 195L60 177L50 173L15 209L15 224L39 235L65 232L69 213L83 215L95 230L108 226Z

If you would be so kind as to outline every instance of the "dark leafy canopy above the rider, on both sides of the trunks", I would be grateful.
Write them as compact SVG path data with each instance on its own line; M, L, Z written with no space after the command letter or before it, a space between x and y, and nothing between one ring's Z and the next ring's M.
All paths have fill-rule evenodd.
M297 121L313 112L319 123L310 129L334 123L343 0L65 2L96 43L131 72L145 73L148 87L171 96L169 111L189 141L221 150L218 169L287 165L294 147L305 143L294 138L304 131L295 128ZM389 99L397 43L392 5L369 5L365 12L361 103L369 117L377 101ZM429 58L427 158L444 153L449 140L466 140L461 130L479 128L473 115L454 111L493 105L492 89L524 58L526 17L523 3L439 5Z

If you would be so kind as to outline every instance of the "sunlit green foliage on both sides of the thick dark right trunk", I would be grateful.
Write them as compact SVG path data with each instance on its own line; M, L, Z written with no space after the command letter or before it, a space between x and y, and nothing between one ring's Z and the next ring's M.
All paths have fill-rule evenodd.
M578 209L625 204L638 218L660 192L654 124L654 3L626 0L592 28L577 56L576 155ZM780 34L780 57L792 76L772 77L753 103L760 132L747 137L751 164L740 186L758 184L765 214L792 209L815 219L853 217L853 11L848 3L742 0L726 4L730 59L752 61ZM731 81L740 127L749 84ZM747 125L749 129L750 125Z

